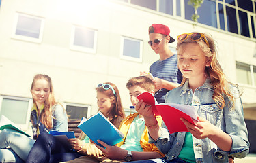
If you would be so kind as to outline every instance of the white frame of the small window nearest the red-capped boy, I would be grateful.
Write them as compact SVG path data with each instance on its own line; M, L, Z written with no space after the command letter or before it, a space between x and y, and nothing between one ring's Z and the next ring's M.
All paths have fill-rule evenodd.
M124 56L124 39L139 42L139 58L134 58L132 56ZM131 60L131 61L134 61L134 62L142 62L143 41L141 39L134 39L134 38L131 38L131 37L122 36L121 37L121 48L120 48L120 50L121 50L120 58L122 58L124 60Z

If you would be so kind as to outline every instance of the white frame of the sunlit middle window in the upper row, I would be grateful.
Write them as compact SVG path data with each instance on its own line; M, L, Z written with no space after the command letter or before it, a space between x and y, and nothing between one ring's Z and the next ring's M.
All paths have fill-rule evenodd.
M94 31L94 48L87 48L87 47L83 47L83 46L74 45L74 37L75 37L76 27ZM97 39L98 39L98 30L87 28L86 26L72 25L71 37L70 37L70 49L77 50L79 52L88 52L91 54L96 54Z

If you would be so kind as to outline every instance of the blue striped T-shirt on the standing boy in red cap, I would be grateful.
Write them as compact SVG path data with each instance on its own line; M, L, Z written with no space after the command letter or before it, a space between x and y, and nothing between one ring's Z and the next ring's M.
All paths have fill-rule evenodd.
M150 73L154 77L158 77L160 79L167 80L173 83L182 82L182 73L177 68L177 54L165 59L165 60L157 60L150 66ZM155 94L156 101L158 103L165 103L165 94L167 94L169 90L162 88L158 90Z

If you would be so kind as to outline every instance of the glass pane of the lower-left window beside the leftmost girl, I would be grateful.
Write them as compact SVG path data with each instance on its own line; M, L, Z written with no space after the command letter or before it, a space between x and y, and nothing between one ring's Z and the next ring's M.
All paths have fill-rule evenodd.
M16 124L26 124L29 101L3 98L0 115Z

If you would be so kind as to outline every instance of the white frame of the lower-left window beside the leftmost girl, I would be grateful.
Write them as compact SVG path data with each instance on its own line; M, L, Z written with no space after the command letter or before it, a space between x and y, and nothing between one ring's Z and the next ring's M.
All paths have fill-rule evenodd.
M1 107L2 107L2 103L3 103L3 98L8 98L8 99L11 99L11 100L16 100L16 101L28 101L29 105L28 105L28 108L27 108L27 117L26 117L25 124L16 124L15 123L21 130L28 130L29 124L30 124L31 108L33 107L33 100L31 98L1 95L0 96L0 111L2 109Z

